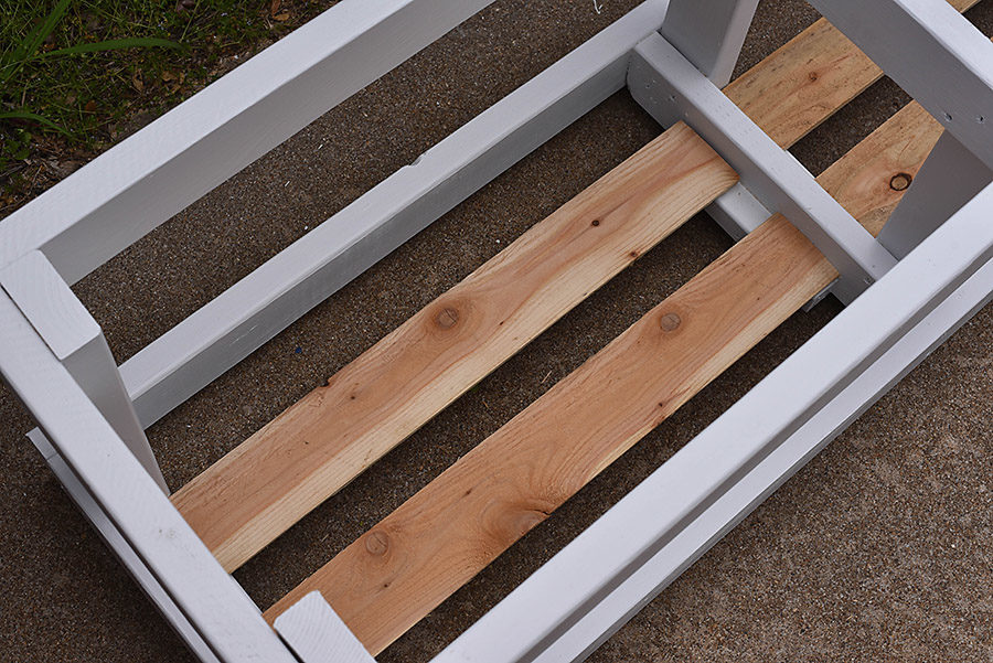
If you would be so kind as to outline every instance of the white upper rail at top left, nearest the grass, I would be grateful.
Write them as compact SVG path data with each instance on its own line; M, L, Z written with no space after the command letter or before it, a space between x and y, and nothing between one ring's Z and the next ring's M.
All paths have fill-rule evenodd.
M72 285L492 0L343 0L0 222Z

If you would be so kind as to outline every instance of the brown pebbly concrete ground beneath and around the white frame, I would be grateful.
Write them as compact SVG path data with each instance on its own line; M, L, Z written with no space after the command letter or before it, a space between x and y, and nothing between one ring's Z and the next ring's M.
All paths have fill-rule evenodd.
M637 0L501 0L75 287L124 361ZM597 8L599 8L599 13ZM990 3L969 17L989 33ZM766 0L744 71L816 18ZM794 149L819 172L906 98L874 86ZM615 95L149 430L175 489L659 131ZM730 245L701 215L235 577L263 607ZM410 630L427 661L840 310L798 313ZM993 660L993 307L591 657ZM0 660L192 661L23 437L0 387Z

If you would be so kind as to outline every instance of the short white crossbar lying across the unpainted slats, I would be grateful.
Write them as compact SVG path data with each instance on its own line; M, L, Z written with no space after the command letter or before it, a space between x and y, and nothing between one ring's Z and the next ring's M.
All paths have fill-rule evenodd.
M663 126L683 120L693 127L766 207L796 225L841 274L835 291L844 301L854 299L896 264L792 154L661 34L647 38L634 50L628 87Z

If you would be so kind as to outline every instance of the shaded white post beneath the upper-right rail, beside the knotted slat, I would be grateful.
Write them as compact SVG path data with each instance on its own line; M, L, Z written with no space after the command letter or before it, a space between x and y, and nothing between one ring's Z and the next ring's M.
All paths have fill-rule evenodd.
M993 171L946 131L883 226L879 244L903 258L991 181Z

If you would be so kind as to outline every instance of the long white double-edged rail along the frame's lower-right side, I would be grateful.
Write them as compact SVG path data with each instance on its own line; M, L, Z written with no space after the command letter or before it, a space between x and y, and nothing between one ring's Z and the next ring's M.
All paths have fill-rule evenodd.
M660 584L775 489L780 481L776 472L789 473L802 464L922 353L989 301L991 213L993 186L467 630L435 663L581 659L599 641L602 628L612 629L630 617ZM975 275L979 278L972 280ZM950 308L936 319L933 312L942 306ZM803 432L807 426L812 428ZM797 437L798 432L802 435ZM786 443L791 446L784 448ZM776 458L771 464L762 466L771 458ZM756 473L760 467L772 470ZM739 491L736 498L732 491ZM722 503L725 496L730 502ZM681 539L683 535L686 538ZM650 578L639 575L652 568ZM636 579L643 584L632 589ZM618 591L623 594L624 587L621 599Z

